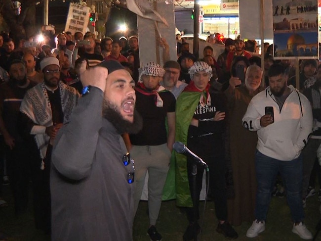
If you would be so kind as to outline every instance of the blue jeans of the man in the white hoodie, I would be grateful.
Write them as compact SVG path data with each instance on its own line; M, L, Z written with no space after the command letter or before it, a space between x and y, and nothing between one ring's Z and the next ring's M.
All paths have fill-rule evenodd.
M271 201L271 193L278 171L286 189L287 203L292 221L301 222L304 218L302 205L302 155L291 161L280 161L255 151L256 203L255 218L265 220Z

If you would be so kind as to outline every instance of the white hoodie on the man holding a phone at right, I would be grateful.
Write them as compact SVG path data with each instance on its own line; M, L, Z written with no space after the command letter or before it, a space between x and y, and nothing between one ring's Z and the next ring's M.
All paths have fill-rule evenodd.
M243 127L257 131L256 148L262 154L282 161L290 161L300 155L313 127L309 100L293 86L289 88L291 93L282 109L268 87L252 98L242 119ZM265 115L266 106L273 106L274 123L261 127L260 119Z

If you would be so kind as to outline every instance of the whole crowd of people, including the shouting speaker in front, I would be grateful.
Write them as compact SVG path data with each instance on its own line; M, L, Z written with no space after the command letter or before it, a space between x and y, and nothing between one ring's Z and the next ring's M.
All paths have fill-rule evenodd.
M213 36L225 50L214 56L208 45L197 59L176 37L177 59L161 39L163 66L140 66L136 35L63 32L53 48L32 39L16 47L1 33L1 175L15 214L26 211L32 181L36 228L53 241L132 240L148 172L151 240L162 239L156 223L174 180L183 240L195 240L204 165L175 152L181 142L207 163L218 233L237 239L233 226L253 220L246 236L263 232L279 173L292 232L312 239L303 219L316 194L311 173L320 174L321 65L302 60L296 86L293 64L274 61L269 44L261 67L255 41Z

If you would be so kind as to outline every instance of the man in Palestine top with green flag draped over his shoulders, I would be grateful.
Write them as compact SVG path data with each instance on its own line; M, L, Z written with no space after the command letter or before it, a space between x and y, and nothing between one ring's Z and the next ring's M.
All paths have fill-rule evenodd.
M226 163L224 134L226 130L226 101L224 95L209 91L211 67L205 62L195 62L189 69L190 84L177 99L175 141L200 156L209 168L209 187L214 195L215 213L219 220L217 232L227 238L236 239L238 234L227 220ZM178 206L186 207L190 222L183 240L193 240L200 233L198 224L199 201L193 203L194 159L175 153L176 160L176 200ZM197 167L196 196L200 199L204 168ZM194 216L194 209L196 216Z

